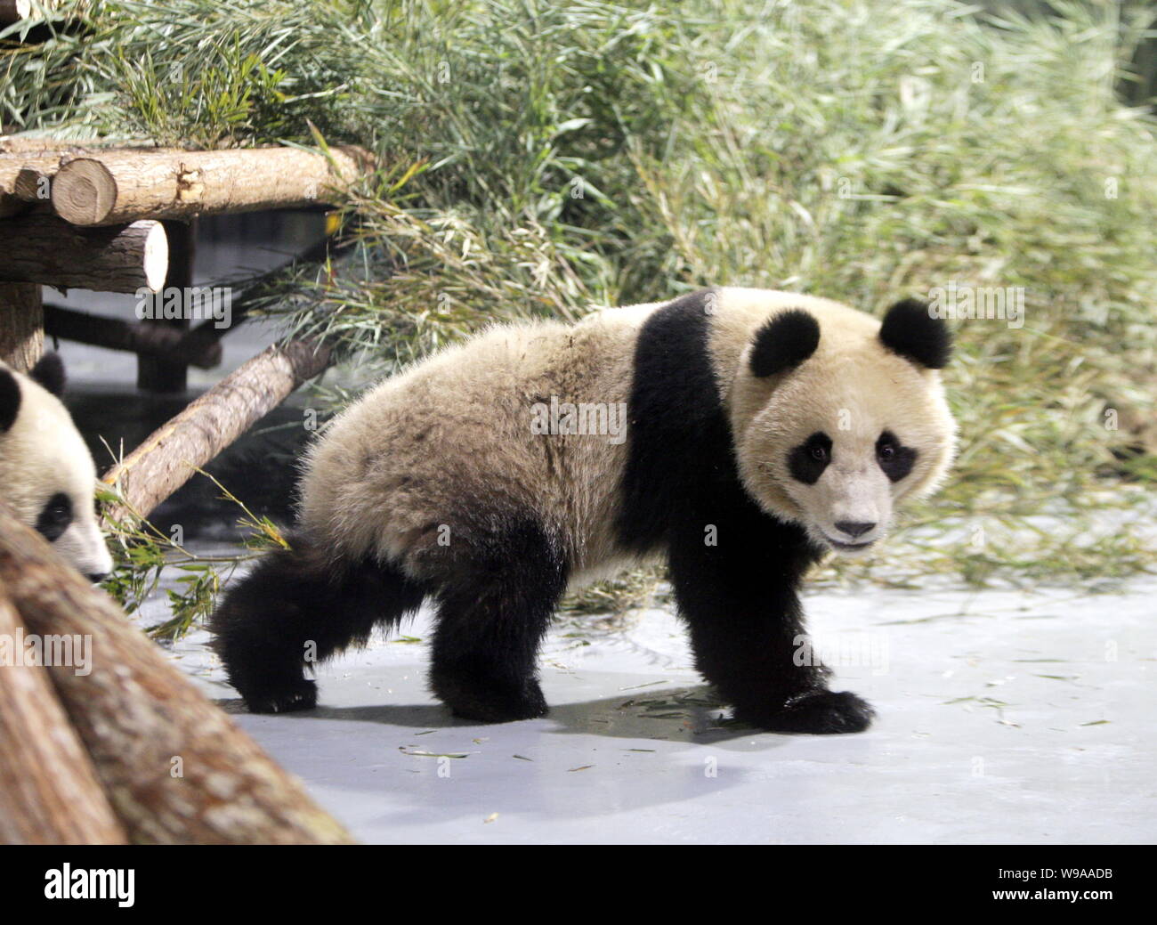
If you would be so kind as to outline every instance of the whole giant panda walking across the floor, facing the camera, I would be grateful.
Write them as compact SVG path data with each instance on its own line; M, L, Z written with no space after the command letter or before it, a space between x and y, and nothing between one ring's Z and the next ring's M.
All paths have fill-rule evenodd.
M559 599L662 557L695 666L737 719L864 729L864 700L796 665L799 583L827 550L871 549L896 505L944 476L950 342L915 300L880 323L714 288L444 350L308 450L292 548L212 618L229 681L255 712L311 707L307 652L363 643L429 597L432 691L472 720L538 717L536 655ZM566 412L583 405L625 410L625 439L576 426ZM544 408L562 409L557 426Z

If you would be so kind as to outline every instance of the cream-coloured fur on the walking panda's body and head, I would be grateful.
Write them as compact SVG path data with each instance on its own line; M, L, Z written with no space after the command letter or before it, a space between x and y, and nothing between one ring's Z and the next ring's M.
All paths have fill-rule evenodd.
M887 352L879 321L837 302L737 288L714 296L710 359L747 491L820 542L843 519L870 520L879 524L871 538L883 535L893 504L930 491L951 461L938 374ZM456 512L499 505L558 530L578 581L613 572L629 430L619 443L545 440L532 433L529 408L552 396L626 403L639 329L662 304L604 309L573 325L495 326L378 384L311 447L302 527L336 558L373 555L421 578L422 551L440 531L469 529ZM752 337L788 308L816 316L819 348L796 370L756 379L746 364ZM875 464L884 427L920 453L896 485ZM819 430L834 441L834 461L815 485L802 485L787 472L787 453Z

